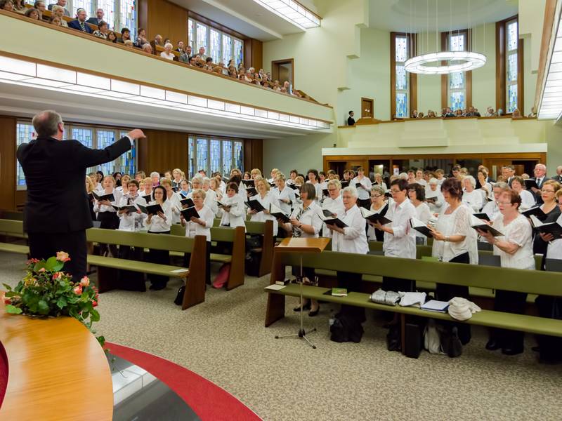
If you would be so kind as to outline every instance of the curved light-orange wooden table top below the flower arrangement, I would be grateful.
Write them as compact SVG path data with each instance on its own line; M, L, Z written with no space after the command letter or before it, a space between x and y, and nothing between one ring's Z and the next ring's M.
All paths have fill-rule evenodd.
M0 420L112 420L110 366L79 321L7 314L0 291L0 342L8 356Z

